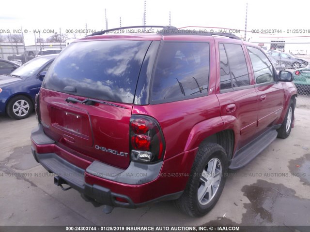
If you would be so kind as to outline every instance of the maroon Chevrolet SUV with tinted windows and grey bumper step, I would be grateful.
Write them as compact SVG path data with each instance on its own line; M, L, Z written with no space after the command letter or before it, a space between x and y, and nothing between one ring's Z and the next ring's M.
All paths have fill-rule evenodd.
M277 73L260 47L173 27L105 32L66 47L36 97L32 153L62 189L106 213L175 200L202 216L228 168L289 136L292 73Z

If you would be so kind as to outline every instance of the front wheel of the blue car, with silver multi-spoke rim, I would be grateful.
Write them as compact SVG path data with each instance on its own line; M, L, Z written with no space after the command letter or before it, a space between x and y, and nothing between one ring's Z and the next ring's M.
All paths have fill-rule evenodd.
M19 120L29 117L33 110L31 100L25 96L12 98L6 107L6 113L13 119Z

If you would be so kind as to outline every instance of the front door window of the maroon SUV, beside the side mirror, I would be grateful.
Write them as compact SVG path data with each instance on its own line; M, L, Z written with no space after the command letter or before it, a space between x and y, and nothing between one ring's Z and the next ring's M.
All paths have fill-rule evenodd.
M273 67L265 54L254 47L248 47L248 54L250 55L256 83L273 82Z

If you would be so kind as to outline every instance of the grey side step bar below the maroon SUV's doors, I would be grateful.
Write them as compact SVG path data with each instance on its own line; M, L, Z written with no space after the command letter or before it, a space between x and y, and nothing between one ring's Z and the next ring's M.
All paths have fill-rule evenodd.
M264 132L254 141L245 145L238 150L233 157L229 169L236 170L246 166L250 161L254 160L268 145L270 145L278 136L276 129Z

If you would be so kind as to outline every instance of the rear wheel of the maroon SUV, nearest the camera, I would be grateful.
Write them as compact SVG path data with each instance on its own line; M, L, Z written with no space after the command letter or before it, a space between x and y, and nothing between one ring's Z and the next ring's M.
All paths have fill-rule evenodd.
M215 169L210 172L213 164L216 164ZM186 188L174 202L175 206L191 217L202 217L208 213L223 191L227 169L228 159L224 148L218 144L203 142L199 146ZM208 184L211 185L206 187ZM211 197L210 191L213 192Z

